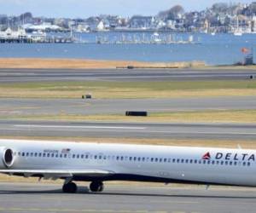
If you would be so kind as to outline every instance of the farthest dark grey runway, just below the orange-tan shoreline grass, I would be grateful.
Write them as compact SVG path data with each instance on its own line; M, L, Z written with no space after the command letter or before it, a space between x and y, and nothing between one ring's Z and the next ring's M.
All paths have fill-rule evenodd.
M0 83L37 81L189 81L243 80L253 69L0 69Z

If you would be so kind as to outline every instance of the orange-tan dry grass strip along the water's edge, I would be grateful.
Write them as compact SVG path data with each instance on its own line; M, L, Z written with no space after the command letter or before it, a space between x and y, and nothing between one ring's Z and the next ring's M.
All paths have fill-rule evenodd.
M115 69L116 67L201 67L201 61L189 62L143 62L127 60L84 60L84 59L38 59L38 58L0 58L1 68L26 69Z

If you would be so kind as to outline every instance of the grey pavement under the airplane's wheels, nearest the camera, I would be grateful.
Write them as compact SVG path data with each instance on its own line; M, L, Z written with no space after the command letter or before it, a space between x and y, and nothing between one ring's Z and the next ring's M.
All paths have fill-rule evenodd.
M84 185L81 185L84 184ZM256 190L246 187L106 185L103 193L61 193L61 185L1 183L0 212L254 213Z

